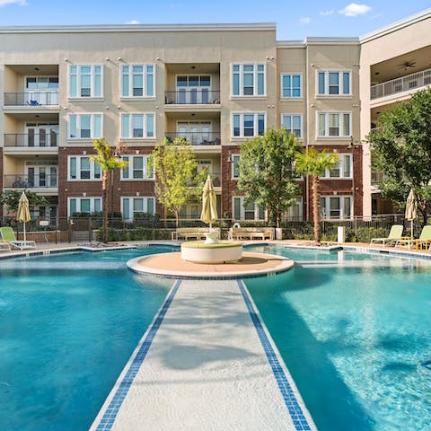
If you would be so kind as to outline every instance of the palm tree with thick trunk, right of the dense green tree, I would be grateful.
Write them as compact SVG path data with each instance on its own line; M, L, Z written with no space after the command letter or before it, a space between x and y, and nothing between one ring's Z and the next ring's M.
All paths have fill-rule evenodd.
M327 169L339 164L339 154L319 153L315 148L307 148L304 153L296 155L296 168L312 179L312 222L314 224L314 241L321 242L321 196L319 185L321 175Z

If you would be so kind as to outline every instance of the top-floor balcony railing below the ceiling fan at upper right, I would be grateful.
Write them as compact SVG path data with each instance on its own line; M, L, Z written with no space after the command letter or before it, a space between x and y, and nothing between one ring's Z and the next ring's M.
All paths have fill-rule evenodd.
M371 100L379 99L400 92L409 92L420 87L431 85L431 69L416 74L401 76L381 84L371 86Z

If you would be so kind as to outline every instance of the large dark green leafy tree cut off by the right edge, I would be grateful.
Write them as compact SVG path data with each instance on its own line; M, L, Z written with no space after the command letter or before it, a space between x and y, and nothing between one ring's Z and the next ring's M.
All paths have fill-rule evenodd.
M427 224L431 201L431 88L383 112L368 141L373 168L383 172L382 196L404 207L409 189L418 196L418 210Z

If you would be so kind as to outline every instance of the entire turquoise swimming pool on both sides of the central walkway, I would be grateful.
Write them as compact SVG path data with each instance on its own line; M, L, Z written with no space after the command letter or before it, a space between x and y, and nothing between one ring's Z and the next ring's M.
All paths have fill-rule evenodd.
M431 429L429 263L247 250L299 262L245 283L321 431ZM173 283L137 276L126 261L167 251L1 261L0 429L92 424Z

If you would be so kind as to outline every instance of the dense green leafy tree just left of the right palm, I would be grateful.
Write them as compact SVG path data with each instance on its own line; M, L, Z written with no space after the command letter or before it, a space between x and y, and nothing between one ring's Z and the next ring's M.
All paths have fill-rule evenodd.
M295 203L299 188L295 184L295 154L300 146L285 129L268 128L241 146L240 177L237 189L244 193L245 205L256 203L268 209L280 227L282 214Z

